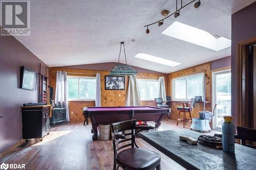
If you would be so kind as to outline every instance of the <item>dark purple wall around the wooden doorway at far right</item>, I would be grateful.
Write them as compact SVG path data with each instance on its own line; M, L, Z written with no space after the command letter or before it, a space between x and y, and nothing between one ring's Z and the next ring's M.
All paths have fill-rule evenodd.
M237 83L237 45L239 42L256 36L256 2L232 15L231 33L231 81L232 100L231 112L234 124L237 125L238 106L238 83Z

